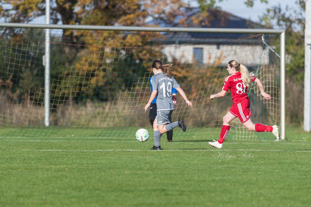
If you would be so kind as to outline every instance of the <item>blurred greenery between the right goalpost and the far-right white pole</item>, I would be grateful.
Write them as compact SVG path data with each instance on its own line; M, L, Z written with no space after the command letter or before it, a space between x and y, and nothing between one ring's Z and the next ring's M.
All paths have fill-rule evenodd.
M305 0L297 0L298 9L281 5L267 10L261 17L268 28L285 29L286 122L303 124L304 108L304 29Z

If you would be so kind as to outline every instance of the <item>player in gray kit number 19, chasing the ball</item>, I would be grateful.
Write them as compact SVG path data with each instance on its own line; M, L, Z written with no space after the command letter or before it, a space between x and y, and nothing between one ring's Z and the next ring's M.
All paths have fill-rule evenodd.
M151 150L161 150L161 134L166 133L167 131L172 130L177 126L182 128L184 132L186 131L186 126L184 124L183 118L180 118L179 120L172 123L170 123L169 121L170 117L172 116L172 112L175 109L173 100L170 96L172 88L175 88L180 93L188 106L193 106L191 101L188 100L183 89L171 75L170 70L172 65L173 64L164 65L159 60L155 60L152 63L152 71L155 74L151 78L151 85L153 91L151 93L148 103L145 106L145 111L147 111L152 100L157 97L157 115L155 121L153 122L155 146L153 146Z

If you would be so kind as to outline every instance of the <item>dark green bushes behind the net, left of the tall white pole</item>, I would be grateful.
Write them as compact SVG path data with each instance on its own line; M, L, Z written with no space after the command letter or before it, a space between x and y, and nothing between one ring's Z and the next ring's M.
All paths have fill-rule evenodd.
M3 36L1 39L0 73L1 85L11 94L10 98L17 103L43 100L43 74L42 47L43 33L27 29L24 34L11 37ZM35 41L34 38L37 38ZM40 44L41 42L41 44ZM33 52L36 51L36 52Z

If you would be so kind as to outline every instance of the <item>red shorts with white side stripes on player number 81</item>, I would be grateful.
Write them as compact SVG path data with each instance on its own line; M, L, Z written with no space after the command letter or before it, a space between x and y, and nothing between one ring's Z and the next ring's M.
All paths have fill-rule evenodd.
M249 99L245 98L239 103L234 103L229 112L235 117L239 117L242 123L246 122L251 116L251 111L249 110Z

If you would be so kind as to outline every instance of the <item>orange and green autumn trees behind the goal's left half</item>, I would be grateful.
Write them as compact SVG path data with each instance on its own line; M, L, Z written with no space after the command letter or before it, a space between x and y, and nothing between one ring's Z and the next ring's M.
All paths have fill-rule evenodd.
M201 14L193 21L208 21L207 10L221 1L199 0ZM254 1L245 3L252 7ZM27 23L45 13L45 1L42 0L0 2L0 14L7 22ZM260 2L267 3L265 0ZM62 21L71 25L146 26L147 20L152 18L154 22L176 26L185 24L185 12L190 5L180 0L56 0L50 7L52 24ZM10 87L16 100L22 97L40 104L44 88L44 31L28 34L28 30L6 29L0 34L1 43L4 45L7 40L12 44L12 52L16 54L14 60L20 60L20 63L16 64L13 59L5 60L11 56L1 57L2 85L10 85L6 87ZM118 34L112 31L64 30L59 39L55 36L51 40L51 104L56 107L63 101L72 104L74 101L113 99L120 88L131 88L134 80L144 77L154 57L165 58L160 48L161 37L160 33L151 37L144 32ZM39 40L38 45L35 40ZM35 59L31 57L29 60L33 47L38 47L35 50L38 52ZM183 76L178 67L174 73ZM12 74L12 77L7 74Z

